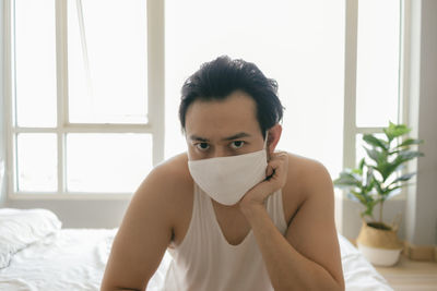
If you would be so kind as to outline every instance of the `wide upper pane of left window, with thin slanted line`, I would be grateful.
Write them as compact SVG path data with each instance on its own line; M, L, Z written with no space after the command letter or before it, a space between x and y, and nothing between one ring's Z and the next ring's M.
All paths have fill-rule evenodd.
M70 122L147 122L146 1L81 2L68 1Z

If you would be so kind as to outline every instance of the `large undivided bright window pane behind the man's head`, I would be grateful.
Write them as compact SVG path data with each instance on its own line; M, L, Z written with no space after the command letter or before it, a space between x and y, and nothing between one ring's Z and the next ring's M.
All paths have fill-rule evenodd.
M279 148L342 167L344 1L166 1L166 143L186 150L178 105L184 81L218 56L255 62L286 107Z

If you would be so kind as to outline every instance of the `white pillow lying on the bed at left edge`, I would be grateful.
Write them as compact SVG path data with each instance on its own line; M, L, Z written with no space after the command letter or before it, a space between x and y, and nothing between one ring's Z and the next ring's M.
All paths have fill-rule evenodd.
M0 268L9 266L13 254L58 231L61 226L48 209L0 208Z

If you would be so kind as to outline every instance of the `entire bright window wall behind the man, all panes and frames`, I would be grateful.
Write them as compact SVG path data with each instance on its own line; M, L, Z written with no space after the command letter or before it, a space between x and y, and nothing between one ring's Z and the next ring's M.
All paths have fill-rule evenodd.
M164 17L160 0L7 0L9 192L132 193L186 149L180 87L221 54L279 82L279 148L335 177L358 159L359 135L405 118L401 3L166 0Z

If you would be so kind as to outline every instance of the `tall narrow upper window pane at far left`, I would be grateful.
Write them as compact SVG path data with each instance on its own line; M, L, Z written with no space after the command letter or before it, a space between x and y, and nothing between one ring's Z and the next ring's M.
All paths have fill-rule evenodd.
M17 124L55 126L55 1L15 0L14 21Z

